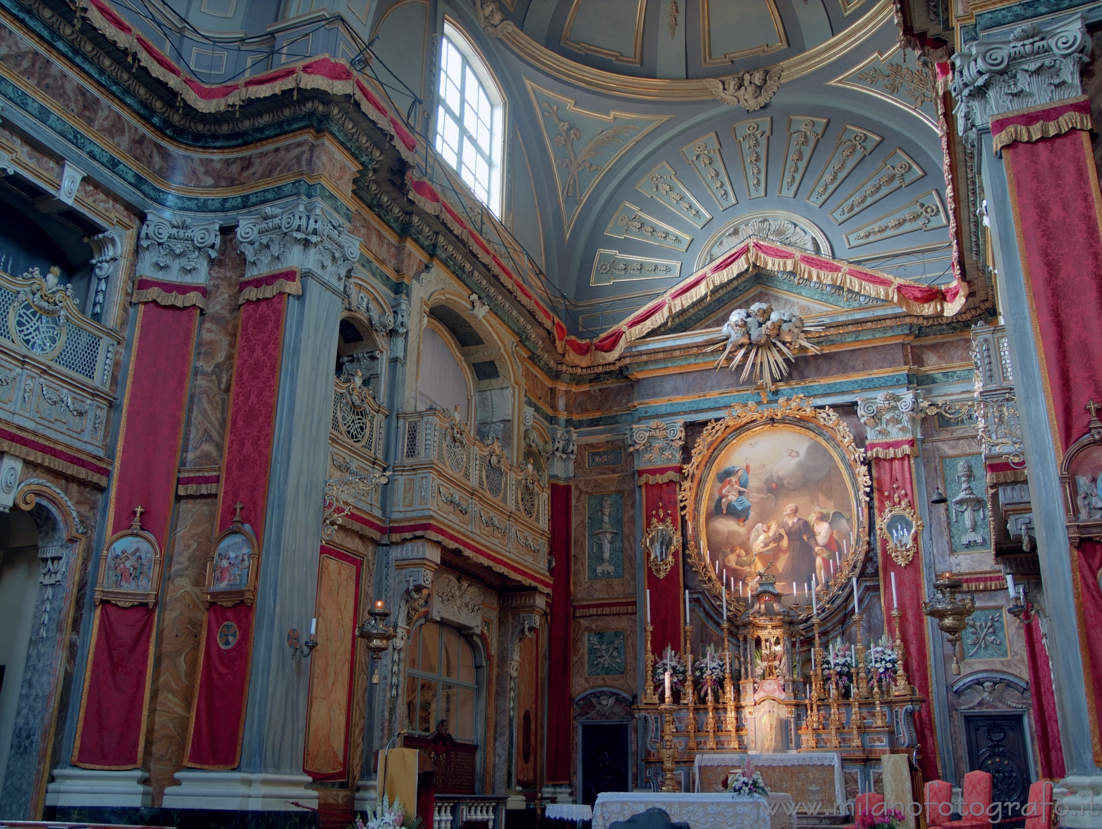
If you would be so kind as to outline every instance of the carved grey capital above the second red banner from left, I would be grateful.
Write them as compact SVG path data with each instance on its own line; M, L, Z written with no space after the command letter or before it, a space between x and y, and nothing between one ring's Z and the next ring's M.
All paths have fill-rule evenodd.
M245 255L245 279L299 269L342 293L359 258L359 239L320 201L270 205L258 215L242 216L237 247Z

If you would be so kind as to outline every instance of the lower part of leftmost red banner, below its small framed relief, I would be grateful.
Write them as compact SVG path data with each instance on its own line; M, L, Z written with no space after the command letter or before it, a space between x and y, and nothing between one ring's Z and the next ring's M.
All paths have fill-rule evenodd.
M96 609L75 765L134 768L145 743L154 613L143 604Z

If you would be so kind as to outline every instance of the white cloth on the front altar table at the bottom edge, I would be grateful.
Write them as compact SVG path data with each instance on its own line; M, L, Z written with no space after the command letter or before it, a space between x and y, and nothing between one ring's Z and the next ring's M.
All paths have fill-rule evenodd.
M776 800L770 809L769 800ZM674 823L689 823L692 829L791 829L796 817L787 814L788 795L776 794L769 798L736 798L726 793L650 793L650 792L603 792L597 795L593 807L593 829L608 829L617 820L627 820L651 808L659 808L670 816ZM774 811L771 816L769 812Z

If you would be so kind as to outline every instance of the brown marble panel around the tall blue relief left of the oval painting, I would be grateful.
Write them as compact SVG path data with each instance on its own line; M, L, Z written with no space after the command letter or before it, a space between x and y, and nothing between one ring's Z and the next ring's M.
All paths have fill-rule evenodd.
M579 450L585 451L584 446ZM575 463L575 469L577 465ZM636 498L635 498L635 475L593 475L588 478L574 480L574 599L633 599L635 598L636 586L636 550L638 538L636 537ZM620 532L620 553L623 557L619 568L614 567L612 577L606 572L596 572L596 564L599 564L601 555L597 555L594 566L594 578L590 578L590 557L597 544L598 553L601 545L598 538L590 532L590 524L594 524L594 532L601 525L601 505L605 494L619 495L623 510L623 527ZM596 511L596 515L590 515L591 505ZM615 512L615 509L614 509ZM614 527L616 528L616 527Z

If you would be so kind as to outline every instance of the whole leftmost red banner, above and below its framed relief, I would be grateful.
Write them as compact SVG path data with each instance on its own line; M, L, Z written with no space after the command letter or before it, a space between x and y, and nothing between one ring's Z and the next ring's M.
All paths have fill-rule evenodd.
M198 314L194 305L138 306L111 476L108 537L129 527L134 508L141 505L142 526L156 538L162 554L176 495ZM134 768L141 764L154 617L155 610L147 606L119 608L105 603L97 610L97 635L88 654L77 723L75 765Z

